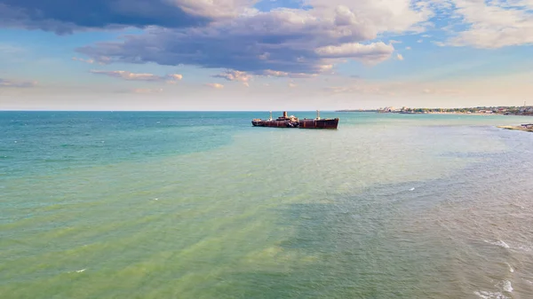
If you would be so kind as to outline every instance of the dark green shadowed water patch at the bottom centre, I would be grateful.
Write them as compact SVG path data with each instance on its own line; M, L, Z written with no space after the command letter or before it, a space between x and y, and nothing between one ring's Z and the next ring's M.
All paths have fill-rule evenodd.
M313 262L233 275L231 281L247 290L243 297L271 298L274 292L274 297L284 298L412 298L431 287L424 274L439 271L447 257L428 256L421 244L391 232L394 211L385 207L349 202L291 205L282 219L298 227L281 248L314 256Z

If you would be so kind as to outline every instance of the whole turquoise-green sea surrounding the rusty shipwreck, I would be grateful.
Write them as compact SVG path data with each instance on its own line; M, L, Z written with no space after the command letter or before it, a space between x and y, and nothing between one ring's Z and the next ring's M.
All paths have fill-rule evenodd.
M0 298L533 298L533 118L321 116L0 112Z

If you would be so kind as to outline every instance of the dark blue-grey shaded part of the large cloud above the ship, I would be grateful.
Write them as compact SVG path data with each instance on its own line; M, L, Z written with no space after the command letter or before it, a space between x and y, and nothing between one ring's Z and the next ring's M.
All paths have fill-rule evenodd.
M261 39L261 36L184 35L164 30L129 36L123 43L99 43L78 51L97 61L155 62L165 66L184 64L247 72L270 68L299 72L312 70L309 61L298 62L302 55L314 57L312 49L292 49L282 43L262 43Z

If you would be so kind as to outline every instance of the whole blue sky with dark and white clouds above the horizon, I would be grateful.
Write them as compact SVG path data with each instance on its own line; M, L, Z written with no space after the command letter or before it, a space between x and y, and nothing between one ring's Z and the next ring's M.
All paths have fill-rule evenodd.
M0 0L0 110L533 105L533 0Z

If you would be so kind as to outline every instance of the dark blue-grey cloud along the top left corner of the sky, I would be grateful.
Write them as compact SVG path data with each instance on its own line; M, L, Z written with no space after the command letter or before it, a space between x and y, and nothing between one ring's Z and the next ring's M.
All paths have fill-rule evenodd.
M187 28L235 17L250 0L0 0L0 27L69 34L88 28Z

